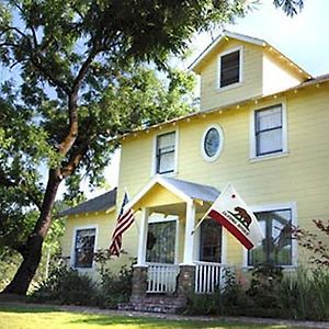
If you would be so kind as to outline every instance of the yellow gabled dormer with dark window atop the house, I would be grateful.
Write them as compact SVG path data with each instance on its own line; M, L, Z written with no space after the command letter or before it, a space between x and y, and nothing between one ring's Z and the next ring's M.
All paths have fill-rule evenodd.
M266 42L227 31L191 69L201 77L202 111L265 97L311 78Z

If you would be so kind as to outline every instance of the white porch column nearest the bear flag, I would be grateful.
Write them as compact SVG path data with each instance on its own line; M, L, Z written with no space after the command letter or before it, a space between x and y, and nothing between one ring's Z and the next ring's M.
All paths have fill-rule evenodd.
M184 243L184 265L193 265L194 260L194 235L192 231L195 226L195 205L193 201L186 203L186 222L185 222L185 243Z

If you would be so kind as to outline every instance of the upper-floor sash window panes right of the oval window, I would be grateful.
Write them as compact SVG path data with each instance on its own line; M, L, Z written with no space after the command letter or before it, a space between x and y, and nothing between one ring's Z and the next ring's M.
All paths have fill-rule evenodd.
M282 104L254 112L256 156L284 151Z

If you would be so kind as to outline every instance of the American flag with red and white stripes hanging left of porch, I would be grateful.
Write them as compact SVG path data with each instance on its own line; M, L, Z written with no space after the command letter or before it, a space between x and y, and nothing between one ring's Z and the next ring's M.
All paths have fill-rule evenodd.
M134 211L132 208L125 209L125 205L128 203L128 194L125 192L122 206L120 209L120 214L117 216L116 227L112 235L112 242L110 246L110 254L114 254L116 257L120 256L121 247L122 247L122 235L126 231L131 225L134 223Z

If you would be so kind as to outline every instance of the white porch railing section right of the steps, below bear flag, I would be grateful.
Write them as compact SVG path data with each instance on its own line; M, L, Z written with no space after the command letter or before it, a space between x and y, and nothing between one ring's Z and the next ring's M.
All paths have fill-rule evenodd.
M195 261L195 293L212 294L220 285L220 263Z

